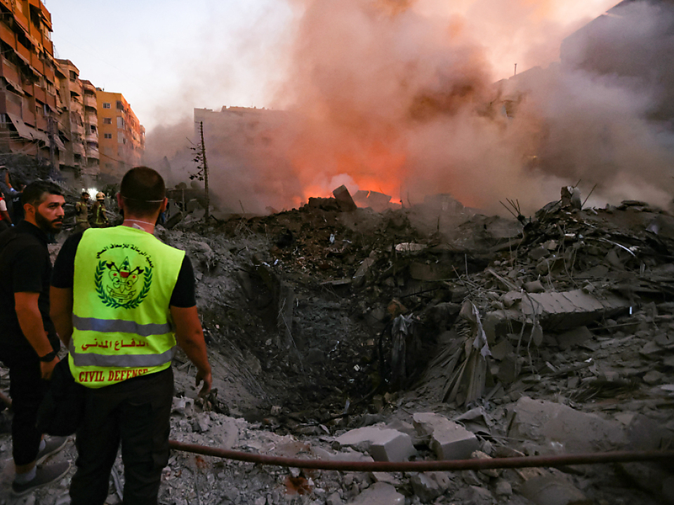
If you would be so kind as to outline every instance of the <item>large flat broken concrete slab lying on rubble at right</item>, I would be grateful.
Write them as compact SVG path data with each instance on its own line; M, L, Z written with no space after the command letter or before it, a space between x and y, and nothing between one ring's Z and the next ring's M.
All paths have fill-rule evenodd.
M562 331L621 314L630 303L612 295L600 298L573 290L529 293L522 298L520 307L527 318L537 318L544 330Z

